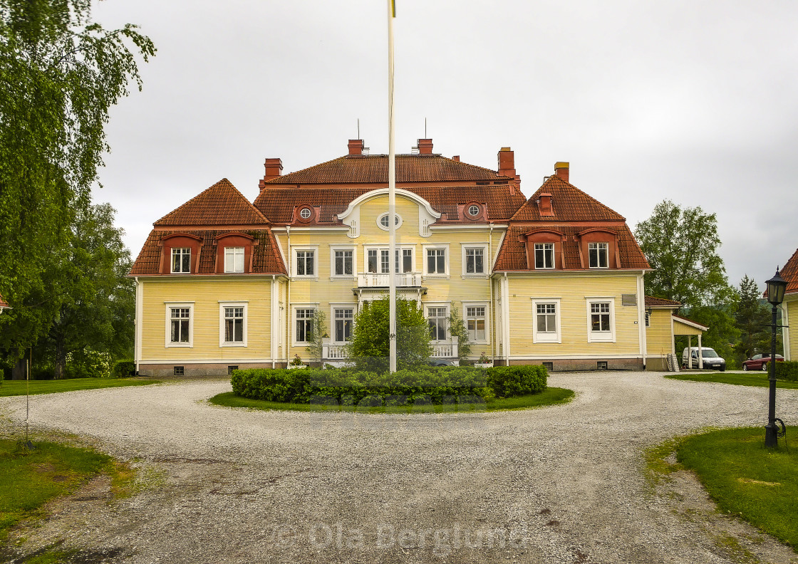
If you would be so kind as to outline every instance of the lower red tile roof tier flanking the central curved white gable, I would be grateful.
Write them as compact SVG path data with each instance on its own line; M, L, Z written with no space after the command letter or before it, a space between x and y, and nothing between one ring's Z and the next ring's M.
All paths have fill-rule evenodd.
M273 187L271 183L267 183L267 187L255 199L255 207L274 223L290 223L294 218L294 207L302 204L320 206L320 223L340 223L336 216L345 211L352 200L373 189L373 187L296 189ZM485 205L488 210L488 221L507 221L524 201L523 194L508 184L460 187L404 186L402 189L420 195L434 210L446 214L441 219L448 221L457 220L458 203L470 202Z

